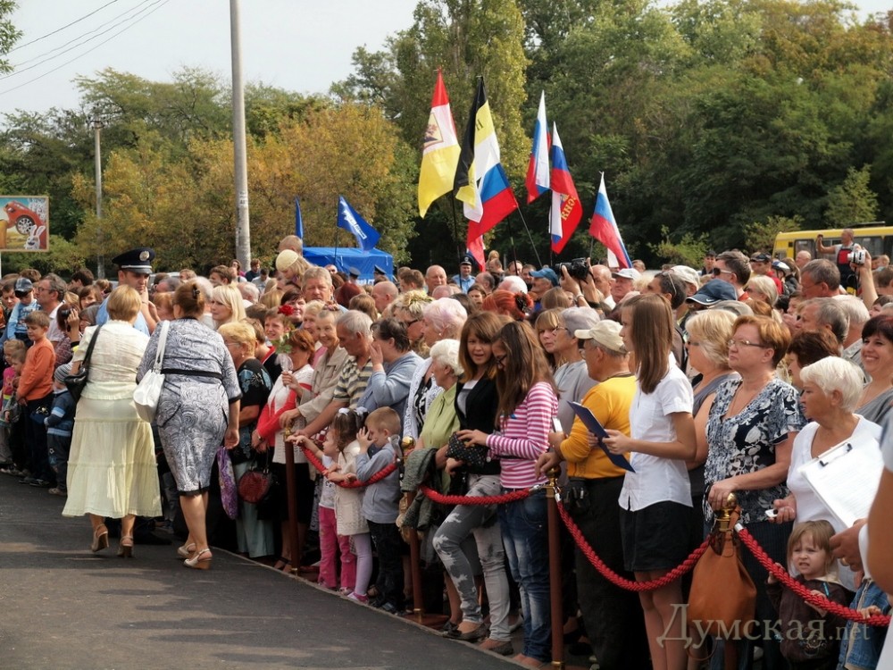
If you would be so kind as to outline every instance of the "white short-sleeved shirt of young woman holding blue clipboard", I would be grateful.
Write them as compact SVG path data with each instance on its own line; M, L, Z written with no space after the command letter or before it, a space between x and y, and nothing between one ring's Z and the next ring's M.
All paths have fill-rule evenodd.
M688 412L694 394L688 378L675 364L657 384L653 393L636 395L630 406L630 436L647 442L674 442L676 427L670 415ZM635 452L630 458L635 473L626 473L620 494L623 509L637 511L658 502L677 502L691 507L691 485L685 461Z

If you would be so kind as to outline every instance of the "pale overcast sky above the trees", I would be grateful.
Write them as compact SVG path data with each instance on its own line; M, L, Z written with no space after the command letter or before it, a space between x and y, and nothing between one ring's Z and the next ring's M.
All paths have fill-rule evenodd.
M413 23L417 0L241 0L243 75L300 93L328 90L357 46L379 49ZM106 67L169 81L184 66L230 79L229 0L18 0L24 33L0 75L0 112L78 106L73 80ZM861 0L863 13L893 0ZM69 25L71 24L71 25Z

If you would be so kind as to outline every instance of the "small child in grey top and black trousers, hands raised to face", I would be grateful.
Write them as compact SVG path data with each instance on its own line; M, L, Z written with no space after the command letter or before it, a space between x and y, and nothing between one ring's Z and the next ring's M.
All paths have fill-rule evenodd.
M390 407L380 407L366 419L363 430L357 433L360 453L356 456L356 474L347 480L368 482L373 474L384 470L396 461L402 422ZM363 517L369 524L369 533L379 555L379 576L375 582L379 596L371 601L372 607L380 607L390 614L403 612L403 560L400 549L403 539L396 527L396 515L400 500L400 477L397 471L388 474L380 482L365 487Z

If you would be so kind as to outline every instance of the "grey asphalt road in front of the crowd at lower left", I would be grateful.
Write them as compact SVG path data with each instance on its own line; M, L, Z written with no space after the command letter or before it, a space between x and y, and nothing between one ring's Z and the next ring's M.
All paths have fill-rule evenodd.
M94 555L62 508L0 475L2 670L519 667L221 550L209 571L176 544Z

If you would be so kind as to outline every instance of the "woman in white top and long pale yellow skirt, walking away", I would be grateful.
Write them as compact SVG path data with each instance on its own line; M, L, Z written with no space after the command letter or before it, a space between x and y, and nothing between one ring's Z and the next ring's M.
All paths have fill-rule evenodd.
M152 428L137 415L133 390L149 338L133 327L141 300L120 286L108 299L109 321L88 328L74 353L77 373L96 337L87 386L80 396L71 436L68 500L64 516L89 515L94 552L109 545L104 517L121 519L118 556L133 556L135 515L161 515Z

